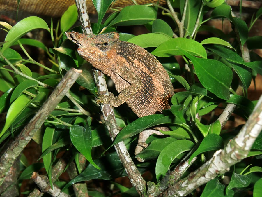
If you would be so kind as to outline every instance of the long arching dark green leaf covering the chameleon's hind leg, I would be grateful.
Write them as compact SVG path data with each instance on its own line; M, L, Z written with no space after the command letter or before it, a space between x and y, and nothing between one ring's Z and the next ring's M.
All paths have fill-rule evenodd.
M163 114L153 114L138 118L137 120L124 127L118 133L112 145L117 144L118 142L121 142L127 139L128 137L132 137L145 130L146 128L164 123L172 123L171 117L164 116Z

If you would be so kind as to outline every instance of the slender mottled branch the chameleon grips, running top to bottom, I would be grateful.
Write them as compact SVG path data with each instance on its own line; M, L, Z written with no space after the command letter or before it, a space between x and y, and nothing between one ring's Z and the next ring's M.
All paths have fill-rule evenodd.
M78 8L84 8L86 3L84 0L75 0L75 1ZM81 9L78 10L78 13L80 13L80 15L78 16L82 25L83 32L85 34L87 34L88 32L92 33L87 10ZM98 87L98 94L109 95L104 74L96 70L93 70L93 72L94 72L96 85ZM110 107L110 105L103 104L101 105L101 111L103 113L105 124L109 131L109 134L111 136L111 140L114 140L114 137L119 133L118 126L116 124L116 118L114 115L114 109ZM140 196L143 196L144 193L146 192L146 181L143 179L140 172L137 170L137 167L132 161L132 158L128 153L127 148L125 147L124 142L119 142L118 144L114 145L114 147L116 149L116 152L119 156L121 163L125 168L125 171L128 175L130 182L137 190L137 193L139 193Z

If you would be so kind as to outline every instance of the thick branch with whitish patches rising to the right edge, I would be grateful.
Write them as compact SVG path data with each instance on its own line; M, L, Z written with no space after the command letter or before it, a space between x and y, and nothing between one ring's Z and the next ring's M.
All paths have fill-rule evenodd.
M238 135L228 142L224 149L215 152L213 157L186 178L170 186L160 196L185 196L195 188L214 179L218 174L229 171L230 166L246 158L256 137L262 129L262 96L247 123Z

